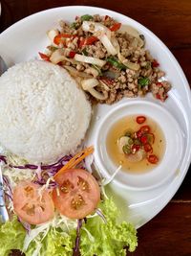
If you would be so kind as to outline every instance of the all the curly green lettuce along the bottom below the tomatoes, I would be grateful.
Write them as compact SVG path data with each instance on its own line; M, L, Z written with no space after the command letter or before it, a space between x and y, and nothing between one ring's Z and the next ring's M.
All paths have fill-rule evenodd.
M87 218L80 230L79 250L83 256L125 256L126 247L134 251L138 245L137 231L126 221L117 222L119 212L112 198L99 203L106 221L99 216ZM66 220L65 220L66 221ZM23 251L26 256L72 256L75 244L74 222L53 225L52 222L33 227L27 234L23 225L14 216L12 221L0 225L0 255L9 256L12 249Z

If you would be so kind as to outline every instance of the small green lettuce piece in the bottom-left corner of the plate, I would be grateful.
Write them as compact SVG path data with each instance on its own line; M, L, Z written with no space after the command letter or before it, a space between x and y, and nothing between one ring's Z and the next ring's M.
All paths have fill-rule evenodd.
M0 255L8 256L11 249L22 249L26 231L22 224L14 217L0 225Z

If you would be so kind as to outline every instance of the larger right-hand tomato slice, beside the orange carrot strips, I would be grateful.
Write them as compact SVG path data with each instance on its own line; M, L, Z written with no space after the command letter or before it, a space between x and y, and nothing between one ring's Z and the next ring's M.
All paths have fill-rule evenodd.
M57 175L57 189L53 190L55 208L71 219L83 219L94 212L100 199L96 178L82 169L70 169Z

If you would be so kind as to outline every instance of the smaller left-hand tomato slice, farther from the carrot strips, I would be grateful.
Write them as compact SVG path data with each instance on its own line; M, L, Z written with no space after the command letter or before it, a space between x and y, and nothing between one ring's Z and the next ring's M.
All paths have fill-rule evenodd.
M13 207L22 221L41 224L53 219L53 199L47 190L31 181L21 181L13 191Z

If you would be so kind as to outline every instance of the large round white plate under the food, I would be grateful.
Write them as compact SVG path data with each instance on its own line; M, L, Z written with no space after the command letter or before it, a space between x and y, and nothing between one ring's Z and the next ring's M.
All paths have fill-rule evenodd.
M127 16L93 7L71 6L38 12L12 25L11 28L0 35L0 55L7 61L9 66L15 62L36 58L37 53L39 51L43 52L49 44L46 32L52 28L56 28L60 19L73 21L75 15L86 13L108 14L123 24L129 24L137 28L140 34L145 35L146 47L150 49L154 58L159 60L161 69L167 73L167 80L173 84L173 89L169 93L169 99L164 104L154 100L151 96L146 97L144 101L161 105L171 112L180 125L183 151L177 171L170 180L149 191L124 189L115 183L112 183L108 189L108 193L112 193L113 197L117 198L118 207L123 214L122 219L133 221L139 227L156 216L174 196L186 175L191 159L190 88L179 63L166 46L156 35ZM125 99L120 103L124 101L128 102L132 100ZM90 131L92 133L89 133L87 143L95 143L94 132L96 132L96 128L105 114L115 106L98 105L96 107L93 120L94 126L91 127ZM174 152L172 151L172 153ZM166 166L166 172L168 173L170 170L171 166Z

